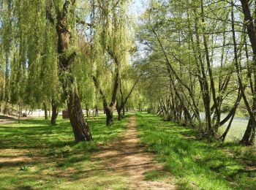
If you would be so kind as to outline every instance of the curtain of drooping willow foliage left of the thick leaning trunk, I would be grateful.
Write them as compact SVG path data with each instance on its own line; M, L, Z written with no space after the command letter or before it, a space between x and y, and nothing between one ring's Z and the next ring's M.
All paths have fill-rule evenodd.
M1 55L2 60L9 60L9 76L4 77L9 81L6 89L10 92L6 102L19 107L42 107L58 91L56 35L45 22L45 4L4 1L1 5Z

